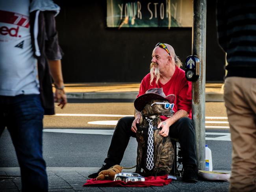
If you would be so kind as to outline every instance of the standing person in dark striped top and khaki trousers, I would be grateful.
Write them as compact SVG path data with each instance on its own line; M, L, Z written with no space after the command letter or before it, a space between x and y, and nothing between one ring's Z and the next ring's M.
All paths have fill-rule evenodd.
M226 52L224 101L232 140L230 191L256 191L256 2L217 2L220 46Z

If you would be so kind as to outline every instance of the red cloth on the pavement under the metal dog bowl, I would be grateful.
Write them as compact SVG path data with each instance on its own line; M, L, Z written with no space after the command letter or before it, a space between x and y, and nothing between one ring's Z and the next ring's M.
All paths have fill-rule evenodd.
M111 180L96 180L96 179L88 179L83 186L136 186L136 187L147 187L147 186L164 186L171 183L172 179L167 179L167 175L164 176L150 176L145 177L145 181L128 181L125 183L124 181L111 181Z

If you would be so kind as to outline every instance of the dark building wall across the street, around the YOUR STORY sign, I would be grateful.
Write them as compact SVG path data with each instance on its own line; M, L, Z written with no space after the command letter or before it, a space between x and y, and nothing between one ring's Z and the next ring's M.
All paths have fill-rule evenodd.
M186 26L186 21L192 18L183 16L182 27L166 26L168 22L161 21L161 18L167 17L165 5L168 0L166 3L163 2L163 5L156 3L159 1L142 0L142 8L139 10L141 15L138 12L139 8L134 8L139 5L138 1L134 1L132 10L135 11L131 17L155 18L158 27L150 24L141 27L139 24L142 20L139 20L141 23L137 22L136 27L127 27L132 23L132 19L128 19L127 22L124 20L129 17L129 4L122 0L73 0L72 4L63 0L54 2L61 7L56 17L56 25L64 52L62 63L65 83L139 82L149 72L152 50L158 42L171 44L182 62L191 55L192 28ZM176 2L180 3L179 0ZM186 1L183 0L183 5L184 2ZM119 5L122 18L113 14L113 9L109 9L110 3ZM108 20L109 10L114 16L112 22ZM117 20L116 17L120 19L119 24L111 26L110 24ZM223 82L225 53L217 43L214 1L207 2L206 17L206 81ZM177 21L177 25L179 20L180 18L172 18L171 22L175 24ZM120 27L121 24L123 25Z

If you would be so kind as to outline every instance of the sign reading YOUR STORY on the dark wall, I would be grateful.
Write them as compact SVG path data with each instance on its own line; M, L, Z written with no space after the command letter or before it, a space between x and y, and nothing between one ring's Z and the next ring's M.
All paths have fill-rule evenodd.
M192 27L192 0L107 0L107 27Z

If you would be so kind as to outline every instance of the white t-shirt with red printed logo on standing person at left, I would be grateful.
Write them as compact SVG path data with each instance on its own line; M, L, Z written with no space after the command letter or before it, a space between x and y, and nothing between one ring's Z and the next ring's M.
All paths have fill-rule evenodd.
M30 0L0 0L0 95L39 94L33 56Z

